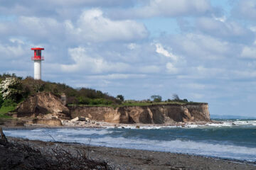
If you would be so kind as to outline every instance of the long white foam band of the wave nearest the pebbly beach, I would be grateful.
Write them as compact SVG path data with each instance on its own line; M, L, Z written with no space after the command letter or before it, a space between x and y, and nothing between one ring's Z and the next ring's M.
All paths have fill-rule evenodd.
M69 139L64 138L68 141ZM86 138L73 138L73 142L87 144ZM91 140L92 145L105 147L120 147L129 149L148 149L163 152L180 152L188 154L199 154L214 157L225 157L230 159L245 159L256 161L256 148L239 147L235 145L208 144L205 142L193 142L182 140L159 141L146 139L127 139L124 137L102 137Z

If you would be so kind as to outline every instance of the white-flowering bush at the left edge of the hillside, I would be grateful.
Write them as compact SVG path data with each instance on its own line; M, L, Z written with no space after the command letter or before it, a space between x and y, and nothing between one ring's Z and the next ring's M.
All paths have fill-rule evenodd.
M15 77L4 79L0 84L0 93L4 100L11 99L16 101L22 96L21 81Z

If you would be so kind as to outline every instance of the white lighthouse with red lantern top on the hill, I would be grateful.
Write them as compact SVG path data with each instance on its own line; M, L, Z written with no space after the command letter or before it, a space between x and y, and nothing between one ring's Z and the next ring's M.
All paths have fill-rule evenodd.
M34 61L34 79L41 79L41 61L44 60L44 57L41 55L41 51L44 48L35 47L31 48L34 51L34 56L31 57L31 60Z

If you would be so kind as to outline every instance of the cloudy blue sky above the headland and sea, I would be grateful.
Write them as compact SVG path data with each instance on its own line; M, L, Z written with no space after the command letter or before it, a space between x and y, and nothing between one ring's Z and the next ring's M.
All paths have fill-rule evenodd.
M255 0L0 0L0 74L254 116Z

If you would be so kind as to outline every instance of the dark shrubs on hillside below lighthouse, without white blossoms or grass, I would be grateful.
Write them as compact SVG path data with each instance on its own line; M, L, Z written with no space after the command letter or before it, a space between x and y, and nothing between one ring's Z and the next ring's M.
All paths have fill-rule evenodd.
M55 96L60 96L61 94L65 94L67 96L68 104L111 104L111 103L120 103L117 98L110 96L107 93L103 93L102 91L97 91L95 89L88 88L80 88L73 89L66 84L60 83L52 83L49 81L35 80L33 77L26 77L26 79L22 79L22 77L16 77L15 74L0 74L0 84L3 84L6 79L16 79L19 81L19 85L8 86L5 91L17 92L16 94L11 94L8 98L14 100L16 103L20 102L24 98L28 96L35 95L39 92L51 92L55 94ZM3 87L6 87L4 85ZM14 91L14 90L15 91ZM1 89L0 89L1 93ZM3 94L3 98L5 99L5 95ZM92 99L100 99L97 101L93 101ZM104 100L102 100L104 99Z

